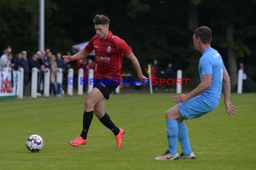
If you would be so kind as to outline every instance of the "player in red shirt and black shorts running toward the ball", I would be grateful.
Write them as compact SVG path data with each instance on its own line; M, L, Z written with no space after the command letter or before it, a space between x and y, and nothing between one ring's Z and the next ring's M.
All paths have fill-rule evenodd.
M122 146L124 130L115 126L109 115L105 112L105 101L109 98L110 93L119 86L121 77L121 68L124 55L132 61L138 78L143 84L147 84L148 79L143 76L140 64L132 53L132 49L124 42L123 39L113 35L109 30L109 19L104 15L96 15L93 19L96 34L91 38L84 50L75 55L64 55L65 63L84 59L95 50L95 60L97 63L97 74L94 77L93 90L88 94L84 102L84 119L83 130L81 135L70 144L80 146L88 142L87 133L93 119L93 112L97 118L109 128L115 135L117 148Z

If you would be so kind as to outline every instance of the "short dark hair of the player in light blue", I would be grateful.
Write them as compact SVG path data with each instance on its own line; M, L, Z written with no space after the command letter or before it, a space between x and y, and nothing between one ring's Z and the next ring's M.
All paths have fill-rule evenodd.
M212 30L207 26L200 26L194 30L195 38L200 38L204 44L210 44L212 41Z

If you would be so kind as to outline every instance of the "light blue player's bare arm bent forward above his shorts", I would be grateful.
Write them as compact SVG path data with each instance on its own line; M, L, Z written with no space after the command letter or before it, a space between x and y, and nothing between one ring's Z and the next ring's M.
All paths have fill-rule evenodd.
M174 103L181 103L186 102L190 98L194 98L197 95L203 93L206 89L211 87L212 84L212 74L204 74L203 81L190 93L188 94L181 94L179 96L172 97L172 102Z

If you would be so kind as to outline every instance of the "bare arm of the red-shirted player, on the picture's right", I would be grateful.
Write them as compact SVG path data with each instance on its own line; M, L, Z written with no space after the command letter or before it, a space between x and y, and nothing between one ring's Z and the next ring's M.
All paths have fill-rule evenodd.
M148 83L148 78L146 78L145 76L143 76L142 72L141 72L141 66L139 64L138 59L136 58L136 56L133 54L133 52L131 52L130 54L128 54L126 56L128 59L130 59L132 61L132 66L135 69L135 71L137 72L138 78L141 81L141 83L143 85Z

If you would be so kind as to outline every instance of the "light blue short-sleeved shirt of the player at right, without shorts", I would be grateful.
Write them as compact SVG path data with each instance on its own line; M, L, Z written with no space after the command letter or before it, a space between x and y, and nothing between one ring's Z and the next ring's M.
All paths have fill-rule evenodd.
M218 51L211 47L207 48L199 60L198 70L201 81L203 81L204 74L212 74L211 87L199 96L202 97L202 99L208 98L212 102L219 103L221 99L222 76L225 66Z

